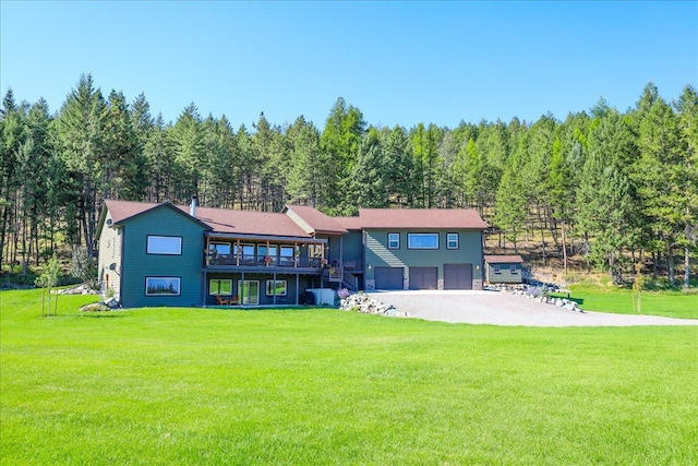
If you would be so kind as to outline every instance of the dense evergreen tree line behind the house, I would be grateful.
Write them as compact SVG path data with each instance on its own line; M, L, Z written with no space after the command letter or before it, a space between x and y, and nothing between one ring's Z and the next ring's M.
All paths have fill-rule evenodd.
M194 104L177 121L141 94L101 93L82 75L56 112L44 99L0 112L0 262L39 265L60 246L92 255L105 199L278 212L313 205L477 208L498 246L538 241L619 277L645 260L689 286L698 246L698 95L673 101L648 83L621 112L603 98L564 121L377 127L341 97L323 128L260 115L234 129Z

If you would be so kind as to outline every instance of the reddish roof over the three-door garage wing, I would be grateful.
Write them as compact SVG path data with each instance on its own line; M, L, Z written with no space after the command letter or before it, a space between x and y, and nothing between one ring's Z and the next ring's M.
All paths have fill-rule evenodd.
M472 208L361 208L362 228L485 229Z

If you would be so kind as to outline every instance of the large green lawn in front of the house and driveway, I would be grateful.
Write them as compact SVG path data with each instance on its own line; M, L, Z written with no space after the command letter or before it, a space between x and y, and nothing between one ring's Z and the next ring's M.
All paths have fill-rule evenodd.
M0 292L0 464L698 464L698 327Z

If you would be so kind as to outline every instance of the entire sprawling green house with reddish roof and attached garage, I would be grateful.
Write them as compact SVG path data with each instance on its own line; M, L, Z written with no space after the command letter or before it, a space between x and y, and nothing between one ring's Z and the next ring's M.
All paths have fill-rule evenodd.
M469 210L328 217L107 200L98 274L127 308L296 306L304 291L478 289L484 222ZM322 295L320 295L322 296Z

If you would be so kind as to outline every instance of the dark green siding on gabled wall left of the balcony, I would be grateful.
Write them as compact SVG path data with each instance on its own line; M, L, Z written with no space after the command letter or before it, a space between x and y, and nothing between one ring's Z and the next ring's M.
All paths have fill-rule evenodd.
M201 306L204 227L168 205L123 223L123 268L121 303L125 308L146 306ZM147 236L182 238L181 255L147 254ZM146 296L146 277L181 278L179 296Z

